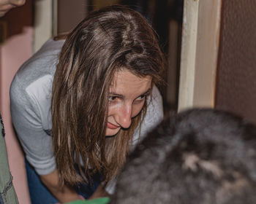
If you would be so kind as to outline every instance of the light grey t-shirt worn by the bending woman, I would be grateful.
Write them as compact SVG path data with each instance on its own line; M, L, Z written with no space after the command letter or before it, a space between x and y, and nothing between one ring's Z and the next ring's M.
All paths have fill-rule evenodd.
M41 49L20 67L10 88L11 114L15 130L26 153L26 159L39 175L56 168L53 155L50 98L53 75L64 40L49 39ZM163 117L162 97L153 88L151 103L141 129L135 130L133 144L137 144L148 130Z

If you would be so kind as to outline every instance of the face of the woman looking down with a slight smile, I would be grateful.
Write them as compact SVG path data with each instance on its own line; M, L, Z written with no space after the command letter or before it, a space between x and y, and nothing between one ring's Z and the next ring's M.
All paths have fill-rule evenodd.
M116 72L109 93L106 136L116 135L121 127L129 128L151 93L151 81L151 76L141 78L125 68Z

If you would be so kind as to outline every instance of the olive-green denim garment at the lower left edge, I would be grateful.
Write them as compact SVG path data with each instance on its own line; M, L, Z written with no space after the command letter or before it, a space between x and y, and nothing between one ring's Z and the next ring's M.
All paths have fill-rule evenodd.
M0 121L0 204L15 204L18 203L18 198L12 185L12 175L7 160L4 125L1 120L1 115Z

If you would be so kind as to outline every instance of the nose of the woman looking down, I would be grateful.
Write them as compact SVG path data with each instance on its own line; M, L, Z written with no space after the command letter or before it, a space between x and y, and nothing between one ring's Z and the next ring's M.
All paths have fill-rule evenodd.
M119 125L121 125L121 127L128 128L132 122L132 105L123 104L119 109L117 109L115 120Z

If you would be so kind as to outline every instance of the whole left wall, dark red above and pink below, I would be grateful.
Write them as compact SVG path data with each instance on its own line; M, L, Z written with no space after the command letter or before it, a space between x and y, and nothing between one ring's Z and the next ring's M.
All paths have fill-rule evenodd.
M20 204L29 204L31 202L23 152L15 136L10 117L9 90L14 74L32 55L31 0L26 0L24 6L7 12L7 15L1 17L0 20L7 24L7 39L0 44L0 112L4 121L8 160L18 200Z

